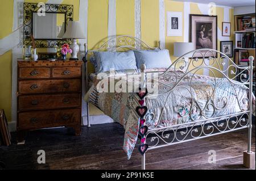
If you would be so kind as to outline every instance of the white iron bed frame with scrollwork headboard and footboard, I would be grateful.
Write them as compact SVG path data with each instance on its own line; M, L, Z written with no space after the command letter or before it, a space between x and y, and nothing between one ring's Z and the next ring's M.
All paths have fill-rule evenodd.
M160 42L159 42L160 45ZM118 51L118 50L123 50L123 49L137 49L137 50L153 50L153 49L160 49L161 47L158 48L153 48L144 43L144 41L133 37L133 36L116 36L113 38L110 38L106 43L104 43L100 48L96 50L88 50L87 45L85 44L85 51L86 51L86 56L88 54L93 55L93 52L95 51ZM189 61L185 61L185 58L187 57L187 54L192 54L192 57L189 58ZM195 56L195 54L200 54L200 57L203 57L200 65L196 65L199 62L199 58ZM206 55L212 54L212 56L206 57ZM215 54L219 54L220 56L215 56ZM201 58L200 58L201 59ZM86 58L85 58L86 60ZM208 60L209 62L205 61ZM162 148L164 146L170 146L170 145L175 145L175 144L180 144L182 142L188 142L192 140L197 140L200 138L205 138L205 137L210 137L214 136L217 134L222 134L222 133L228 133L228 132L233 132L237 131L239 129L248 129L248 142L247 142L247 151L244 152L243 154L243 163L246 167L253 167L255 166L255 153L251 151L251 129L252 129L252 114L253 114L253 60L254 57L249 57L250 64L249 66L238 66L234 64L234 62L226 56L224 53L219 52L217 50L213 49L198 49L198 50L193 50L192 52L188 52L184 54L183 56L177 58L175 60L171 67L174 69L167 69L163 73L159 74L159 77L162 76L163 81L158 81L158 83L163 83L164 85L168 86L168 80L170 78L175 77L176 82L175 85L169 86L170 90L162 93L162 94L168 94L170 96L171 92L174 91L177 87L179 87L179 83L181 80L188 75L188 73L193 73L191 82L193 79L193 76L198 70L201 69L208 69L210 73L213 74L214 80L216 81L216 75L214 74L215 72L220 73L223 75L225 80L228 80L232 86L234 85L247 85L249 87L249 98L243 99L243 103L248 104L248 108L246 110L243 110L241 108L240 102L238 101L238 104L240 106L240 112L233 113L231 115L223 115L220 117L213 117L214 112L216 110L221 110L222 108L219 108L217 106L218 102L214 102L214 92L216 91L217 84L215 84L214 90L210 98L207 100L207 104L205 105L204 108L201 108L196 100L195 97L193 97L192 94L192 89L191 89L191 84L189 88L187 88L188 92L192 96L192 104L191 104L191 109L189 113L185 116L189 116L193 120L193 117L191 116L193 108L197 108L197 110L200 110L200 119L195 120L191 123L184 123L184 124L178 124L174 126L169 126L169 127L163 127L163 128L148 128L147 133L144 134L142 138L146 138L147 140L150 140L148 142L154 142L152 145L147 145L146 142L143 145L147 145L148 149L147 150L152 150L152 149L157 149L157 148ZM210 63L212 62L212 63ZM224 66L228 64L228 66ZM213 66L213 65L217 65ZM225 70L223 70L223 67L226 67ZM87 67L87 66L86 66ZM189 67L189 69L188 69ZM146 81L151 81L147 79L147 73L144 72L146 69L146 66L142 65L141 71L142 71L142 89L145 89ZM181 78L178 78L178 72L179 70L184 71L184 75ZM238 73L238 70L240 72ZM249 77L247 76L247 72L249 72ZM88 71L86 71L86 75L88 76ZM235 82L237 78L241 79L241 82ZM86 77L86 86L88 86L88 77ZM236 92L236 91L235 91ZM152 96L150 94L146 95L145 98ZM143 99L145 99L143 98ZM168 98L168 97L167 97ZM236 92L236 98L237 97L237 92ZM228 99L223 97L219 101L226 102L225 105L228 103ZM167 100L164 104L166 105ZM205 116L204 111L209 109L209 106L213 108L213 114L212 116ZM88 107L88 105L87 105ZM88 127L90 127L90 121L89 121L89 107L88 107ZM154 116L154 115L152 115ZM161 120L163 116L163 111L160 113L160 117L158 119ZM182 115L181 115L182 116ZM147 117L139 117L139 119L147 119ZM141 125L141 127L145 127L146 123L144 125ZM170 134L172 133L172 134ZM170 138L171 135L171 138ZM181 137L181 138L180 138ZM148 139L147 139L148 138ZM168 141L167 141L168 140ZM142 169L146 169L146 151L145 153L142 153Z

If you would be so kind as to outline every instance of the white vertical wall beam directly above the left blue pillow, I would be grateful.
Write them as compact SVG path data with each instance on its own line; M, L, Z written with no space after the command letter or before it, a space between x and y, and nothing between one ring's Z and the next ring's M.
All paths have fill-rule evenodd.
M109 23L108 37L109 39L117 35L117 2L109 0Z

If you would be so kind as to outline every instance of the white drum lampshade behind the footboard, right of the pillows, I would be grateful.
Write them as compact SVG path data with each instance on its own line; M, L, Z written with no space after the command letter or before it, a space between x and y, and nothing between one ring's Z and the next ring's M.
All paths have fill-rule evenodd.
M175 42L174 43L174 56L181 57L184 54L195 50L194 43L183 43L183 42ZM192 53L185 55L184 57L192 57Z

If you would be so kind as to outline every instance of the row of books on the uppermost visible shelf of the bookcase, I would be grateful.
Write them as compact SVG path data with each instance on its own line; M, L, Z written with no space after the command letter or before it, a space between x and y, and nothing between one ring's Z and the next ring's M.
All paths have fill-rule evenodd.
M240 16L237 18L237 31L255 30L255 17Z

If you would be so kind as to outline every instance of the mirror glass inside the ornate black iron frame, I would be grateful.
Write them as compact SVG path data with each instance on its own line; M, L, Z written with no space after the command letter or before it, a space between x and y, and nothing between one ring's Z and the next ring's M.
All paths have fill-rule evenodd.
M46 13L39 16L33 13L33 35L35 39L61 39L64 34L65 14Z

